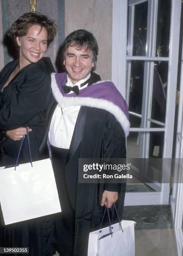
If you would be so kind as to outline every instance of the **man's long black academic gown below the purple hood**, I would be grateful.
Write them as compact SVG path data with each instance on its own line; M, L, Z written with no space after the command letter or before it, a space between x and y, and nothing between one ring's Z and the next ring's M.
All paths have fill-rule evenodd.
M92 73L89 85L98 80L100 80L100 76ZM57 101L59 101L58 93L57 91ZM52 115L58 104L57 101L53 99L48 107L47 134ZM125 120L125 122L128 123L128 120ZM44 139L46 141L47 136ZM45 150L45 141L43 140L43 144L40 146L41 152ZM68 194L70 202L75 209L75 245L73 255L87 255L89 233L97 230L101 223L104 207L100 207L100 202L103 191L106 189L108 191L120 192L118 200L120 218L122 218L123 214L125 197L125 184L78 183L78 159L125 157L125 132L115 116L104 109L92 108L85 105L81 106L65 167Z

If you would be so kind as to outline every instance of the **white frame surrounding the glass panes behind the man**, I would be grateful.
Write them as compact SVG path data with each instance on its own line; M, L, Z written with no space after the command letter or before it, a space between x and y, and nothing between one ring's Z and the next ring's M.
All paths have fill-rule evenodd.
M131 0L133 3L135 0ZM139 0L142 3L144 0ZM152 1L152 0L149 0ZM136 1L135 1L136 3ZM168 91L167 108L165 120L164 152L163 158L172 157L173 130L175 115L175 91L178 72L178 46L180 32L180 10L181 0L172 0L171 21L170 21L170 53L165 58L169 62L168 68ZM126 98L126 62L128 60L158 60L158 57L147 56L127 56L127 24L128 24L128 0L113 0L113 44L112 44L112 80L118 90ZM121 25L123 24L123 25ZM163 59L162 59L163 60ZM171 103L171 104L170 104ZM135 128L130 128L134 131ZM152 131L148 128L148 131ZM138 128L140 131L140 128ZM170 136L172 135L172 136ZM164 170L167 172L167 170ZM170 170L168 170L170 176ZM149 204L168 204L169 202L169 184L162 184L161 192L128 192L125 196L126 205L149 205ZM143 200L142 200L143 198Z

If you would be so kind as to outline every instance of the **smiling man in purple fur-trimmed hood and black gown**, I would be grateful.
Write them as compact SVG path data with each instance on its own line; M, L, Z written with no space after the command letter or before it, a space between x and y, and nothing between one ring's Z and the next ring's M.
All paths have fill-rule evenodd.
M88 236L101 222L102 206L110 208L120 197L120 216L123 212L125 186L78 183L79 158L126 156L128 108L112 82L93 73L97 55L93 34L74 31L63 43L67 74L52 74L47 133L62 208L55 220L58 251L64 256L87 255Z

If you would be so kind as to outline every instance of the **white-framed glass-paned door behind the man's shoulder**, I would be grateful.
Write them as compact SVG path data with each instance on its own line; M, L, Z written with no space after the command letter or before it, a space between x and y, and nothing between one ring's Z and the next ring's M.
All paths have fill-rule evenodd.
M148 184L142 184L143 187L146 186L145 192L140 192L143 191L141 189L128 192L130 189L127 186L125 203L168 204L170 165L166 159L171 159L173 148L181 0L114 2L113 38L116 30L116 35L119 33L116 36L118 44L124 46L126 43L127 46L125 56L123 53L120 58L118 51L116 68L113 61L113 74L118 77L115 79L113 76L113 79L125 96L130 113L127 157L151 159L151 162L163 159L161 175L166 182L154 183L152 177L146 175L143 166L134 166L132 171L135 177L140 179L142 175L147 176ZM128 17L122 10L125 9L124 2L127 5ZM120 17L117 23L116 17L120 11L124 14L123 20ZM124 24L126 33L123 33ZM127 40L120 33L126 34ZM115 50L113 55L115 56ZM124 81L120 83L116 69L125 77L125 84Z

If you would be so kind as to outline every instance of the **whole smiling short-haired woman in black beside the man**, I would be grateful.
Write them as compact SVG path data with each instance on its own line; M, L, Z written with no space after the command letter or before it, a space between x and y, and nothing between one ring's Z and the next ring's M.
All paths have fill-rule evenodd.
M8 32L19 49L19 59L8 63L0 73L0 165L15 164L21 138L29 128L33 161L39 160L39 146L45 128L50 97L50 71L43 61L53 41L53 20L38 13L25 13ZM29 161L27 138L19 163ZM35 219L0 228L1 247L29 247L29 255L52 255L49 222ZM50 238L53 238L50 236ZM44 243L48 248L43 248ZM50 243L54 243L51 241ZM47 253L43 251L47 250Z

